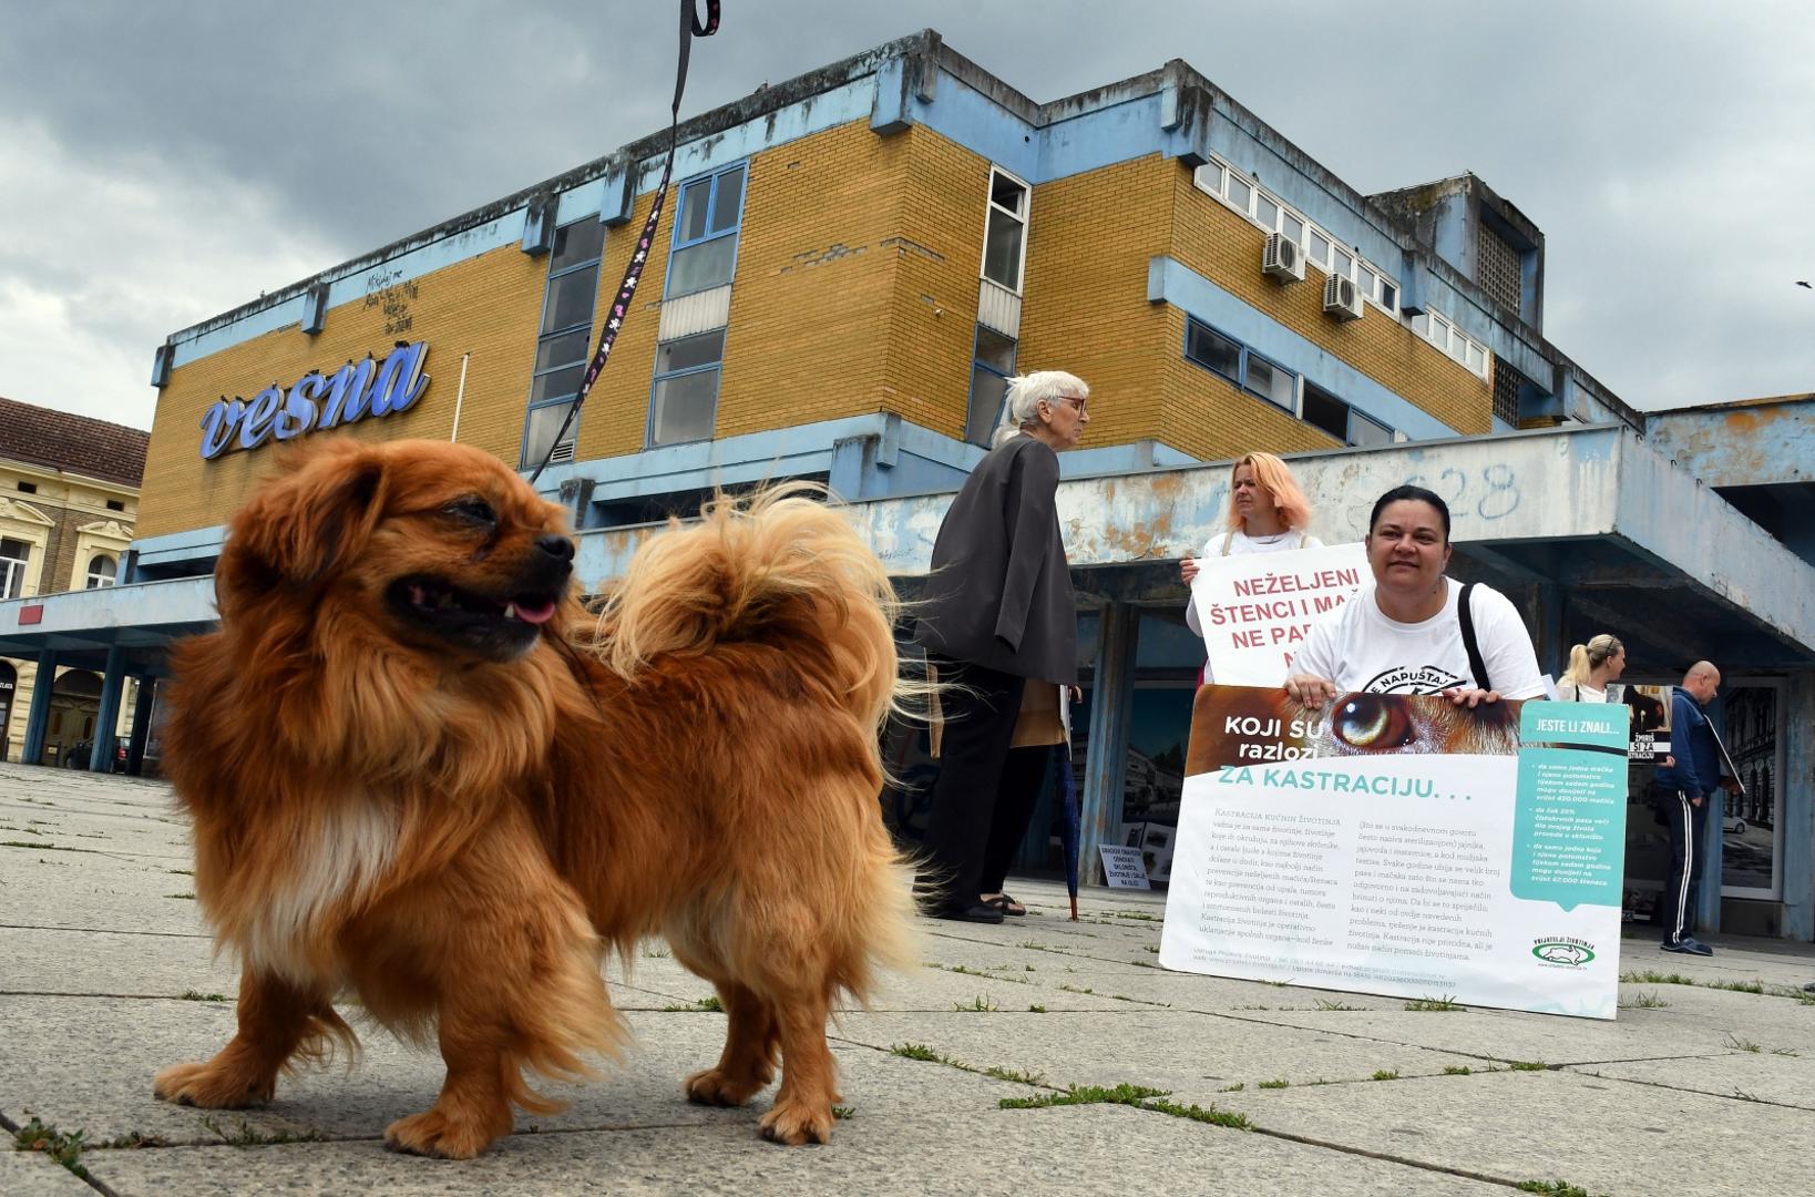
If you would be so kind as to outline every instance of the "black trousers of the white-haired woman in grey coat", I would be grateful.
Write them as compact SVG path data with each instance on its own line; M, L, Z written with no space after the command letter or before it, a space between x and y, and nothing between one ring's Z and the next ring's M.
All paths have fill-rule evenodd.
M984 888L986 861L991 859L991 845L998 845L1002 772L1027 679L969 661L937 656L931 661L938 668L940 685L953 685L940 696L946 730L938 779L933 781L933 810L926 825L927 866L920 875L920 888L931 905L971 906L978 894L991 892ZM1027 810L1020 812L1015 839L1027 828ZM1007 836L1006 819L1000 836ZM1013 841L1004 850L1013 856ZM995 883L996 888L1002 886L1000 874Z

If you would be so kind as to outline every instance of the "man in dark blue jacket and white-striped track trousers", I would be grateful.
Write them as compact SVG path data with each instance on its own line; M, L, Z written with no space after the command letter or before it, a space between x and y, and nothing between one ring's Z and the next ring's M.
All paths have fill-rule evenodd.
M1670 694L1670 761L1652 779L1652 805L1670 825L1670 883L1663 894L1664 952L1713 955L1690 934L1701 886L1702 803L1721 786L1721 748L1702 712L1721 692L1721 670L1697 661Z

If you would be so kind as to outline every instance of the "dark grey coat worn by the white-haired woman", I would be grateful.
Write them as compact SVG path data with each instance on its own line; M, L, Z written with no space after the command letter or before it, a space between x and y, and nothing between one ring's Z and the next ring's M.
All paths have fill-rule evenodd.
M1004 674L1074 685L1078 607L1058 534L1058 454L1016 436L951 501L915 639Z

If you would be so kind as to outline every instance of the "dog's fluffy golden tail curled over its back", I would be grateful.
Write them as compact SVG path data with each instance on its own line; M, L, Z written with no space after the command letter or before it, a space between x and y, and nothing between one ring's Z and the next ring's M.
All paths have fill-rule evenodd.
M878 728L900 690L895 587L875 552L826 501L784 483L719 496L701 521L643 545L599 616L599 650L623 678L661 654L735 641L819 650L813 672L864 727Z

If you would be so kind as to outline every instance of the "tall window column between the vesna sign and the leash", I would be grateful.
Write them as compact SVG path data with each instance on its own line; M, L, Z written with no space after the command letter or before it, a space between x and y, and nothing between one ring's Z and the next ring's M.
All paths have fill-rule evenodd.
M604 225L595 216L555 229L555 245L548 254L543 325L535 341L535 367L530 374L530 411L523 425L523 469L541 465L550 458L550 447L554 447L550 460L574 460L577 427L570 427L559 445L554 441L586 376L592 305L599 294L603 252Z

